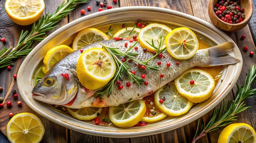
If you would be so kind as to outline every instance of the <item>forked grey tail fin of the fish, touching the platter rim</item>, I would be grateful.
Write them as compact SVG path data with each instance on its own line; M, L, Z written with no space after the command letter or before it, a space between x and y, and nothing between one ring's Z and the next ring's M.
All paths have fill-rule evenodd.
M208 52L211 59L209 65L216 66L239 63L239 59L228 54L234 47L234 42L226 42L209 48Z

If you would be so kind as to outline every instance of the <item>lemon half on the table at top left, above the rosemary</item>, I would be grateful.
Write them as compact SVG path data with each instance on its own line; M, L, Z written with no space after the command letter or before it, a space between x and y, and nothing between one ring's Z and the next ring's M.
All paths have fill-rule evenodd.
M45 9L43 0L6 0L5 10L16 24L26 26L36 22Z

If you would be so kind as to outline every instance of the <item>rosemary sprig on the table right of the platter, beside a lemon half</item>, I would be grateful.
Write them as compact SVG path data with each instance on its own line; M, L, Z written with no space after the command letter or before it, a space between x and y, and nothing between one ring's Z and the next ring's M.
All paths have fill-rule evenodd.
M204 137L207 133L212 132L214 130L218 130L218 128L227 126L228 124L236 121L237 114L245 111L250 106L245 106L243 100L246 98L252 98L253 95L256 94L256 89L251 89L251 85L256 81L256 66L251 65L249 69L249 73L245 78L245 84L241 87L236 84L238 91L236 93L234 100L229 100L227 102L227 108L225 107L225 102L223 101L223 105L220 105L218 110L216 107L213 109L213 114L211 119L209 119L208 123L204 126L201 126L201 131L198 133L200 120L198 121L197 130L195 133L195 137L193 138L192 143L195 143L201 137ZM204 126L204 127L203 127Z

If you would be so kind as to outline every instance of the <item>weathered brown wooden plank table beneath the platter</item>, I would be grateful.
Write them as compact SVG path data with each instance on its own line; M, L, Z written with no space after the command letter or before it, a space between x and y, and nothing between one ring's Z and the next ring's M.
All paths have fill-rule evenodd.
M103 0L101 0L103 2ZM112 0L107 0L108 4L112 5L113 8L117 7L124 7L124 6L157 6L157 7L163 7L166 9L173 9L175 11L180 11L182 13L186 13L189 15L193 15L195 17L198 17L202 20L205 20L207 22L211 21L209 20L209 15L207 13L207 6L208 6L208 0L118 0L117 3L113 3ZM256 0L253 0L256 2ZM4 46L6 48L9 48L11 46L15 47L16 43L19 38L20 31L22 29L29 29L30 26L18 26L16 24L13 24L9 18L6 16L6 12L4 9L4 2L5 0L0 0L0 37L5 37L7 39L6 43L0 42L0 49L2 49ZM63 2L63 0L45 0L45 11L44 13L52 13L56 10L57 6L60 5ZM91 6L91 11L87 11L87 6ZM87 4L82 4L76 7L74 11L70 13L67 17L63 18L61 22L59 22L57 25L57 28L54 28L54 30L60 28L61 26L72 22L73 20L78 19L79 17L83 17L85 15L89 15L91 13L95 13L98 11L99 6L96 4L95 0L90 0ZM80 10L85 9L86 13L85 15L81 15ZM106 7L103 8L106 10ZM255 9L255 5L254 5ZM132 12L132 11L131 11ZM248 69L250 65L255 65L256 63L256 54L254 54L253 57L249 56L249 52L253 51L256 53L255 48L255 35L256 35L256 13L254 12L254 15L252 16L251 21L249 24L243 28L242 30L239 30L237 32L226 32L227 36L231 37L235 43L240 48L240 52L243 56L243 70L240 74L240 78L238 79L237 83L239 85L243 85L245 82L245 76L248 72ZM47 32L47 35L49 35L51 32ZM241 40L241 35L246 35L246 38L244 40ZM249 50L247 52L243 51L243 47L247 46ZM16 90L18 93L18 88L16 85L16 80L13 80L13 74L16 74L18 71L18 68L20 64L22 63L22 60L24 58L20 58L13 63L12 69L9 71L6 68L0 69L0 87L3 87L3 91L0 91L0 97L4 98L4 102L7 100L16 102L16 100L13 99L12 96L12 90ZM256 85L253 86L254 88ZM234 95L236 93L237 88L234 87L232 91L227 95L225 100L233 99ZM20 97L18 100L22 100ZM238 121L236 122L244 122L249 125L251 125L254 129L256 129L256 96L253 98L249 98L245 100L246 106L251 106L252 108L247 109L246 111L243 111L242 113L238 114ZM45 119L44 117L38 115L34 111L32 111L26 104L23 102L22 107L13 106L11 108L7 108L6 106L4 108L0 108L0 143L8 142L8 139L6 137L6 123L9 121L8 114L10 112L13 113L21 113L21 112L31 112L37 115L43 122L45 126L45 134L42 140L42 143L191 143L193 136L195 134L196 126L197 126L197 120L193 121L192 123L183 126L181 128L177 128L176 130L172 130L169 132L165 132L162 134L155 134L150 135L146 137L136 137L136 138L108 138L108 137L97 137L92 136L88 134L82 134L80 132L76 132L67 128L64 128L62 126L59 126L58 124L55 124L52 121L49 121L48 119ZM212 111L201 117L200 119L203 121L207 121L209 117L211 116ZM197 141L197 143L216 143L218 136L223 128L220 128L219 130L210 132L207 134L207 136L202 137Z

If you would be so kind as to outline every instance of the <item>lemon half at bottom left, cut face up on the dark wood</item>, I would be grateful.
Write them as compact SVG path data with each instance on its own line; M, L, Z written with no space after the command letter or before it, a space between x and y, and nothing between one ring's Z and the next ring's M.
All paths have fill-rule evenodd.
M39 143L44 133L43 123L31 113L18 113L7 124L7 138L11 143Z

